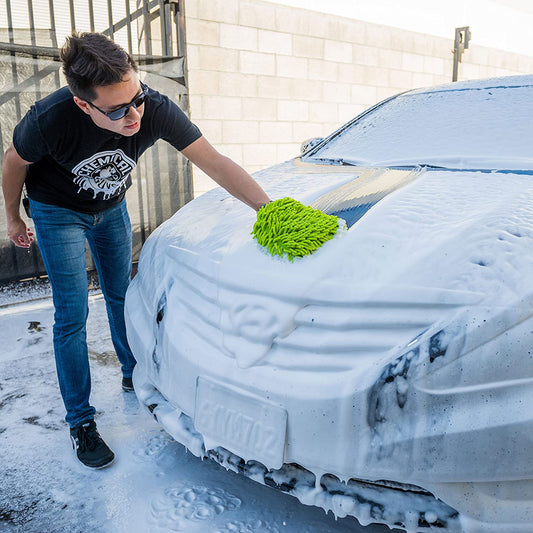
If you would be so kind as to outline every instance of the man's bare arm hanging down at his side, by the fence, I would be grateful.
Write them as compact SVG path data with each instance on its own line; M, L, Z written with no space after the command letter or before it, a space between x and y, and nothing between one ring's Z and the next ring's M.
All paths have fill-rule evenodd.
M20 248L29 248L33 241L33 233L20 216L20 197L29 164L10 144L2 164L2 192L6 206L7 234Z

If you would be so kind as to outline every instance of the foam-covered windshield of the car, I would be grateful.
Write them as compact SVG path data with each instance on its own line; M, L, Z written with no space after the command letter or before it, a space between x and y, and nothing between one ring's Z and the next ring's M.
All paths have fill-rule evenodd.
M356 118L304 159L533 169L532 82L532 77L503 78L401 94Z

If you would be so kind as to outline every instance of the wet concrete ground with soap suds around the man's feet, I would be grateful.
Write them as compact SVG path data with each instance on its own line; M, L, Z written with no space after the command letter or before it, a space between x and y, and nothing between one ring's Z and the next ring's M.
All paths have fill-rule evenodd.
M0 532L384 533L201 461L120 387L102 296L90 297L92 403L117 459L74 457L52 350L53 308L37 292L0 292Z

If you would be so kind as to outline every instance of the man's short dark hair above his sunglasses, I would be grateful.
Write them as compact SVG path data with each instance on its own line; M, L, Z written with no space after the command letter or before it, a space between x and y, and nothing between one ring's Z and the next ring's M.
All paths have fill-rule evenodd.
M119 83L132 69L137 72L133 58L101 33L73 33L59 57L70 91L88 102L97 97L95 87Z

